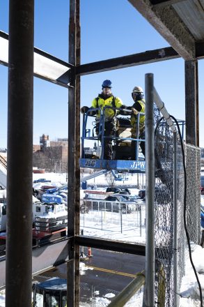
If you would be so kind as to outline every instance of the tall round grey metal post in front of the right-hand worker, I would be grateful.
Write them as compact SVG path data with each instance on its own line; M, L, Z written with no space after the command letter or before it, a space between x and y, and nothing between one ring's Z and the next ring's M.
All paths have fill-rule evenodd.
M146 286L145 306L155 306L154 76L146 74Z

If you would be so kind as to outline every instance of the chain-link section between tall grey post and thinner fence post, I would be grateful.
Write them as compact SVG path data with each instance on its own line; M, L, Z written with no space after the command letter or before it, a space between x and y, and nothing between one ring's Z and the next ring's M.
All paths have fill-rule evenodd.
M155 264L156 296L173 306L173 135L162 120L155 130Z

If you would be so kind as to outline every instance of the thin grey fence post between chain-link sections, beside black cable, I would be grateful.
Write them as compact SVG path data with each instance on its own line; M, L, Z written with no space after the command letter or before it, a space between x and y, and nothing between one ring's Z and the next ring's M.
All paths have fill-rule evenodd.
M178 307L178 197L177 197L177 132L173 133L173 291L174 306Z

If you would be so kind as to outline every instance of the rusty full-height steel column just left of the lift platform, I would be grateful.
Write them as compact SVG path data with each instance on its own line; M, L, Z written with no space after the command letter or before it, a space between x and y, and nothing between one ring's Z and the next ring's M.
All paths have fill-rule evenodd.
M77 20L78 19L78 20ZM70 0L69 63L80 63L79 0ZM79 234L79 150L80 150L80 79L72 69L68 101L68 237L72 237L68 262L68 306L79 306L79 247L74 236Z

